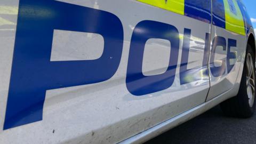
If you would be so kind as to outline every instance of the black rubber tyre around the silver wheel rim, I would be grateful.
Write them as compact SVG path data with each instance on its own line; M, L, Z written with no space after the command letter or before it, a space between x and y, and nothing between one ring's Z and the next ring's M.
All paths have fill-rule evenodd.
M249 118L254 113L255 92L253 92L254 93L254 100L252 100L253 105L252 105L252 107L250 107L249 97L248 97L247 89L246 89L246 73L248 71L247 67L246 67L246 58L249 53L252 56L252 60L253 60L253 64L254 64L255 63L255 54L254 54L250 44L248 44L247 48L246 48L243 74L242 74L242 79L241 79L238 94L236 95L236 97L230 98L230 99L220 103L220 107L221 107L223 113L226 114L227 116L239 117L239 118ZM253 68L254 68L253 73L255 76L255 65L253 65ZM254 84L255 84L255 78L254 78ZM254 85L254 90L255 90L255 85Z

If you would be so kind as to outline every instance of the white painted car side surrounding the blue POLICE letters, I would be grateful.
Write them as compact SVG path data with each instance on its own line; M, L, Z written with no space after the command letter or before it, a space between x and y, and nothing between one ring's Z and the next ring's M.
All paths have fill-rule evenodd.
M118 69L107 81L47 90L42 121L3 130L19 1L1 1L0 143L117 143L134 135L123 143L140 143L188 121L223 100L233 97L238 92L244 62L245 36L218 27L212 27L211 30L210 23L134 0L61 0L56 2L90 7L116 15L122 22L124 34L122 57ZM98 16L93 16L95 17L92 20L95 20L94 25L97 27ZM79 18L79 15L74 15L74 17ZM168 89L136 96L127 90L127 65L133 31L139 22L145 20L166 23L177 28L180 39L178 63L174 82ZM180 68L185 65L181 63L183 39L186 37L185 28L191 30L187 69L196 69L194 73L187 75L185 80L189 81L196 77L196 81L181 84ZM203 67L206 33L212 34L211 41L215 35L237 39L237 47L234 49L237 59L233 61L235 68L231 73L221 77L213 77L211 72L210 77L203 74L207 71L207 67ZM105 44L104 36L100 34L54 29L49 61L99 59ZM164 74L171 59L170 53L173 50L170 47L172 46L173 44L166 39L148 39L143 52L141 68L143 75ZM226 58L226 52L218 51L217 53L214 65L218 66L218 61ZM115 58L109 57L109 59ZM92 69L98 67L100 66L97 65ZM102 75L105 72L102 71ZM206 99L207 102L205 102Z

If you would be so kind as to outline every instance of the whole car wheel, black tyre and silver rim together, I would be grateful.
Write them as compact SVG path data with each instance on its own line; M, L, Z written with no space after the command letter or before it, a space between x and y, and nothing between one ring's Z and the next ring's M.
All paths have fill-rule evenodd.
M248 44L245 55L242 79L236 97L220 104L223 113L228 116L248 118L255 109L255 54Z

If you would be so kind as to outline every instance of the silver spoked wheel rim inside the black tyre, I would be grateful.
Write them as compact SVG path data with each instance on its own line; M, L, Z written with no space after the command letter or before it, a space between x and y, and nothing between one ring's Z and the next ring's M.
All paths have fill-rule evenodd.
M254 89L255 89L255 77L254 77L254 63L252 60L252 55L250 53L247 54L246 58L246 89L247 89L247 95L249 100L250 107L253 106L254 102Z

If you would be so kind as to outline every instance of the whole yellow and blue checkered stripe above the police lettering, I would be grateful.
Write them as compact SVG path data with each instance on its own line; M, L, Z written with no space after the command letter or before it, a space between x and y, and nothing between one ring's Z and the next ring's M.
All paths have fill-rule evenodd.
M211 22L211 0L137 0L161 9ZM245 35L245 20L236 0L212 0L213 25Z

